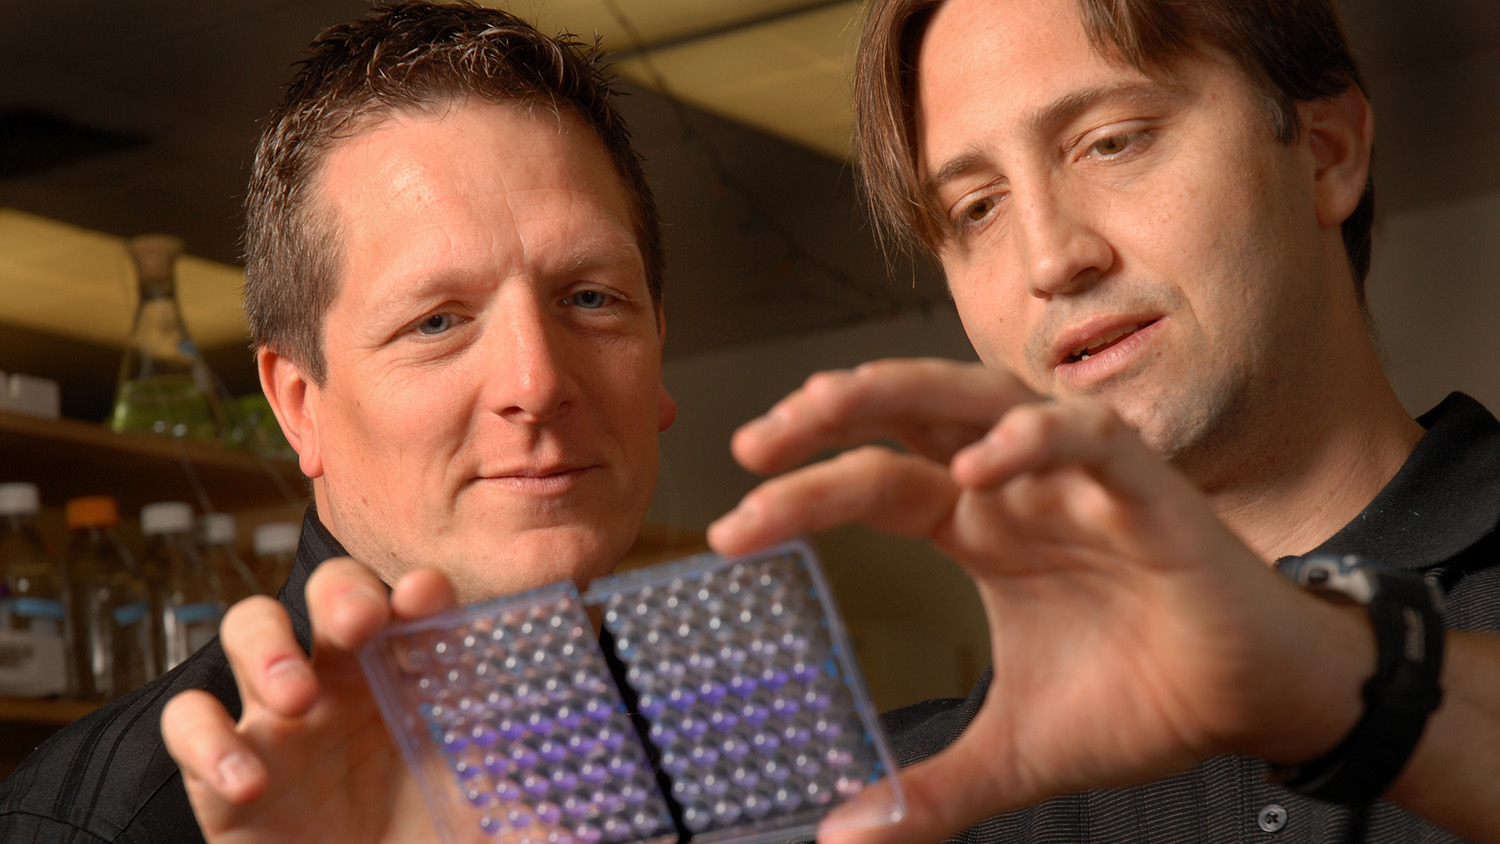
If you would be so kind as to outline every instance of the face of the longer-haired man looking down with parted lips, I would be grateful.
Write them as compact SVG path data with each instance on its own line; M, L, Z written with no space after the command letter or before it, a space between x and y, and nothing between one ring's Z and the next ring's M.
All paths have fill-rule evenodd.
M1227 58L1150 78L1090 46L1074 0L951 0L916 81L918 177L982 360L1178 459L1293 406L1329 238L1308 145L1275 141Z

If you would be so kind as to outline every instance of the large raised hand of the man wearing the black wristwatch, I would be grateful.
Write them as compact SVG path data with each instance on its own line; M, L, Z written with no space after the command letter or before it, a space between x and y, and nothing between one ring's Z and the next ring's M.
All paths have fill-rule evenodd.
M861 841L938 841L1044 798L1155 780L1226 751L1300 760L1358 718L1359 667L1320 678L1302 654L1311 642L1368 652L1359 619L1270 573L1096 402L1041 400L972 364L880 361L813 376L744 426L734 451L776 472L879 439L910 453L864 445L772 478L708 534L716 550L744 553L864 523L927 537L980 589L990 696L948 751L902 774L908 819ZM1264 682L1266 666L1276 684ZM1304 712L1306 730L1286 735L1288 714ZM879 792L819 840L849 841L842 820Z

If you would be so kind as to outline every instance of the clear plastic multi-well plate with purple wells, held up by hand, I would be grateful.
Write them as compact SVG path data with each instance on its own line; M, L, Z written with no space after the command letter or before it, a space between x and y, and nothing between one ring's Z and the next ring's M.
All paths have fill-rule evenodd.
M892 771L802 543L462 607L360 660L450 844L807 840ZM890 795L860 823L898 820Z

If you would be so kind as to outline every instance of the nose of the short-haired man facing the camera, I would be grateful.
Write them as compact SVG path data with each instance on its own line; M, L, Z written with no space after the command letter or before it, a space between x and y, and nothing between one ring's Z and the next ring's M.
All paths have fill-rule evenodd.
M566 411L574 385L567 337L543 303L507 307L484 334L486 406L518 424Z

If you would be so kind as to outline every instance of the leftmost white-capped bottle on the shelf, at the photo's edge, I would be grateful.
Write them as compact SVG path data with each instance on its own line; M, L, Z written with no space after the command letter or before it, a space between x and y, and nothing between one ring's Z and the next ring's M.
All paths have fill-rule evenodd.
M69 688L68 580L36 529L36 484L0 484L0 694Z

